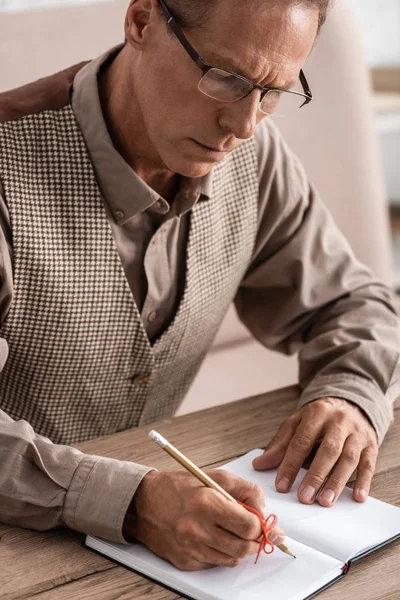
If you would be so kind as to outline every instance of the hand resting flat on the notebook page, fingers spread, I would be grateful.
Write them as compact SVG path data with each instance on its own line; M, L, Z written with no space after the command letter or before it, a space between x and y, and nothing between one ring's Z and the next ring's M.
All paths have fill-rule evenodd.
M376 467L378 440L362 410L347 400L321 398L303 406L281 425L253 467L264 471L280 464L276 489L288 492L318 442L320 447L297 491L299 500L312 504L318 494L321 506L332 506L357 469L353 498L364 502Z

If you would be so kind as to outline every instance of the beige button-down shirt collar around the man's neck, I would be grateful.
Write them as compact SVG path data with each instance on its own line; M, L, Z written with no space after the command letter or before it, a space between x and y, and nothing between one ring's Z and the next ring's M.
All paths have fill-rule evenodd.
M123 225L150 207L159 207L164 213L168 212L170 207L115 149L104 121L97 78L100 70L114 60L121 48L123 45L115 46L77 73L71 102L102 194L115 220ZM199 179L182 177L174 207L176 214L184 214L193 208L199 198L209 199L211 189L212 170Z

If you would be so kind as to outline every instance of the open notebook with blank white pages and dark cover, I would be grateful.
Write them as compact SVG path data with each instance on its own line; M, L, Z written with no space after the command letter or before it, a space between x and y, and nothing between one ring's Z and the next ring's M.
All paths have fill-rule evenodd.
M296 490L275 490L276 469L255 471L252 460L262 450L221 468L258 483L265 491L267 510L278 517L285 543L296 559L275 548L272 554L247 557L239 566L205 571L180 571L141 544L126 546L92 536L85 545L149 579L194 600L308 600L345 576L352 561L400 537L400 508L369 497L363 504L345 488L335 506L301 504Z

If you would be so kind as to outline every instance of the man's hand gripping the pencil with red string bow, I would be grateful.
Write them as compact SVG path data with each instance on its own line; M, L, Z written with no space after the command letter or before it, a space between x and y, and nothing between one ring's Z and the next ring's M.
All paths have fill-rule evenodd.
M219 469L207 474L234 498L266 516L259 486ZM124 535L141 541L179 569L234 567L258 551L259 519L186 471L150 471L136 491L134 508L135 524L129 527L128 516ZM269 539L274 542L277 536L284 534L275 527ZM277 543L281 541L282 537Z

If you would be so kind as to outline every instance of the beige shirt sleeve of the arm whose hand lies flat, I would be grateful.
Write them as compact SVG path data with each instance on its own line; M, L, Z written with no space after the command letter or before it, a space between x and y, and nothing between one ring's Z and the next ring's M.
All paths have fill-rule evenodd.
M299 160L265 121L256 143L259 227L238 315L266 347L298 352L298 408L344 398L365 412L382 443L400 395L395 295L356 259Z

